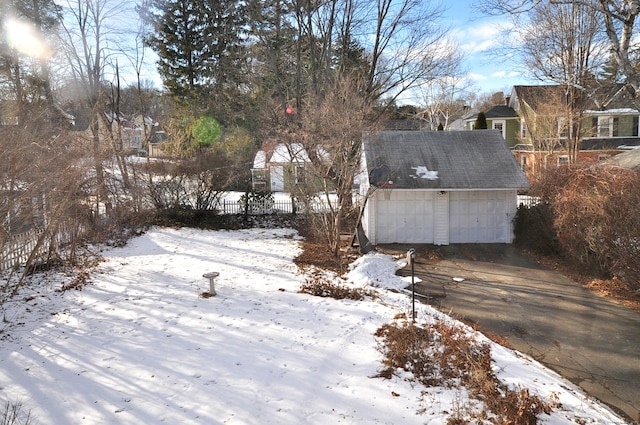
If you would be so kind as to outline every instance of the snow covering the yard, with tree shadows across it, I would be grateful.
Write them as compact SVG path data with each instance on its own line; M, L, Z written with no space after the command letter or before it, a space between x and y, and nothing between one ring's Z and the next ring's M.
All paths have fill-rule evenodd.
M335 300L298 293L299 252L291 229L153 228L105 249L82 290L56 291L71 279L60 272L32 276L2 306L0 402L42 424L443 424L473 404L464 388L376 377L375 331L411 310L402 259L372 253L326 274L375 291ZM212 271L217 296L203 297ZM422 304L418 320L455 322ZM491 344L502 381L562 404L541 423L624 423Z

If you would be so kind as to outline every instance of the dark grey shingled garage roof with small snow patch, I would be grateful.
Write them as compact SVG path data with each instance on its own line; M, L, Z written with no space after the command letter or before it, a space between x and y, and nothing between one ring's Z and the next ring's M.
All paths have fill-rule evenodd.
M527 189L499 131L382 131L365 134L372 185L399 189ZM437 171L437 178L431 173Z

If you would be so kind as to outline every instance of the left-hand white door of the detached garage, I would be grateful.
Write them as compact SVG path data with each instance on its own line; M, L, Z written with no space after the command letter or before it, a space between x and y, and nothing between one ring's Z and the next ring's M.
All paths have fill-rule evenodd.
M376 243L433 243L434 192L393 190L376 198Z

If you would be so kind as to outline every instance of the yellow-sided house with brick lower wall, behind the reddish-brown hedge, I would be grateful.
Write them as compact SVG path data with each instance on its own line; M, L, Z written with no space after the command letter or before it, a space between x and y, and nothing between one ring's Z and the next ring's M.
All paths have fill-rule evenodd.
M610 100L600 106L591 100L583 105L578 162L601 161L640 146L640 111L624 91L616 88L614 93L604 96ZM563 145L566 139L562 116L564 104L566 95L562 86L513 87L509 105L520 117L517 135L520 142L512 146L513 154L530 177L534 177L540 168L570 162L570 153ZM535 142L529 129L537 132Z

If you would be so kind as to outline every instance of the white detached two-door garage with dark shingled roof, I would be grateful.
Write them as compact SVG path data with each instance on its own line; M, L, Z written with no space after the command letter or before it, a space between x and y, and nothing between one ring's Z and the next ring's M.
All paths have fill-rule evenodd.
M498 131L371 133L361 166L362 227L373 244L513 241L529 182Z

